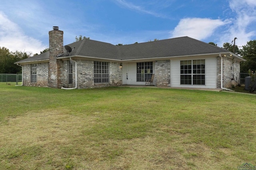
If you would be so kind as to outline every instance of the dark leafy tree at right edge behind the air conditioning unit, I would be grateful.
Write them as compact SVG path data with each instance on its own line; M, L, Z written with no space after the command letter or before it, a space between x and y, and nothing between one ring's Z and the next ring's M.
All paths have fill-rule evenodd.
M246 61L241 63L241 72L248 72L248 70L256 71L256 40L248 41L241 50L241 55Z

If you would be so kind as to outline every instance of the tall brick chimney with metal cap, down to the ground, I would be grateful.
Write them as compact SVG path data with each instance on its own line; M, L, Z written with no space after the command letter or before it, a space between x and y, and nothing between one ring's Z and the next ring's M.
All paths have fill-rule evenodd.
M49 87L61 88L63 83L60 68L63 62L56 59L63 54L63 31L60 31L59 27L54 26L53 30L49 31L49 51Z

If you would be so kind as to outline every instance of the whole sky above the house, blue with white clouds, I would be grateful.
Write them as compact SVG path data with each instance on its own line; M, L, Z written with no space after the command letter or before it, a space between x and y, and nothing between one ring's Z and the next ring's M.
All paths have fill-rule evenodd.
M188 36L241 47L256 39L256 0L2 0L0 47L40 53L48 31L116 45Z

